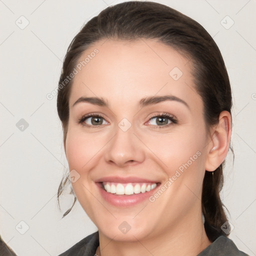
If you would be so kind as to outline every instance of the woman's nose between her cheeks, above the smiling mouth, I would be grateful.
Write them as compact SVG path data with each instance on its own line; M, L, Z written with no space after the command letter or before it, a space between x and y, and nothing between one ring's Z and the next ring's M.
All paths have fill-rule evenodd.
M117 126L105 152L105 160L118 167L141 163L145 159L143 143L133 133L132 126L126 131Z

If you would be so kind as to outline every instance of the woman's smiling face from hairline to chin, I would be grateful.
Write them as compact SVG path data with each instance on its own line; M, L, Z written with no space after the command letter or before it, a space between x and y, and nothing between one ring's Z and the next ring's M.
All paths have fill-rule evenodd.
M187 229L201 216L209 149L189 60L149 39L98 41L77 64L86 57L65 140L78 201L111 239Z

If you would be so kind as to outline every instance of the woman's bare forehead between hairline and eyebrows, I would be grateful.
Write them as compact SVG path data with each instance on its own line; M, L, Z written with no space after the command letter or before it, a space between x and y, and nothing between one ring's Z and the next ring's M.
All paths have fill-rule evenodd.
M184 100L199 99L189 60L154 39L97 41L81 54L77 65L70 104L80 96L104 97L109 105L170 93Z

